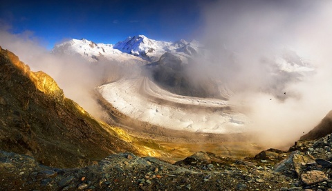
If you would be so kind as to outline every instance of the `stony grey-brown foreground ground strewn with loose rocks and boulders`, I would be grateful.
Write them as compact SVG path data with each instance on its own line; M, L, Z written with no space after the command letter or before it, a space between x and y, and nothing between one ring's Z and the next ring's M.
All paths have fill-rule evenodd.
M120 153L71 169L0 152L0 190L332 190L331 149L329 134L252 158L197 152L171 164Z

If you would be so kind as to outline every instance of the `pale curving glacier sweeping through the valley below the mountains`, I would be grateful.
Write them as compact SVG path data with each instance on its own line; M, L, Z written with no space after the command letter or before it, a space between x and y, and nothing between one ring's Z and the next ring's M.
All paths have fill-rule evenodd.
M228 101L172 94L147 77L121 79L98 90L123 114L172 130L239 133L246 131L248 123L245 115L232 111Z

